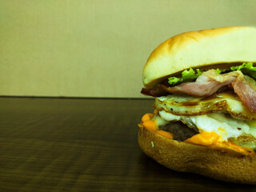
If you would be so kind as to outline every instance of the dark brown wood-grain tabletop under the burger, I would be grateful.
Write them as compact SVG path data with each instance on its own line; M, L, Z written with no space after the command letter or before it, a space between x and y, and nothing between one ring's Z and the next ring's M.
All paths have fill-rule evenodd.
M137 124L153 100L0 98L0 191L256 191L148 158Z

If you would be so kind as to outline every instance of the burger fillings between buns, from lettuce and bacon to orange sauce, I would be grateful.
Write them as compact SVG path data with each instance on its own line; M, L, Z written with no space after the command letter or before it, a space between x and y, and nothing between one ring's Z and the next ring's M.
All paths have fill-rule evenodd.
M255 79L253 63L230 70L184 70L182 77L142 89L158 97L154 115L142 126L180 142L256 151Z

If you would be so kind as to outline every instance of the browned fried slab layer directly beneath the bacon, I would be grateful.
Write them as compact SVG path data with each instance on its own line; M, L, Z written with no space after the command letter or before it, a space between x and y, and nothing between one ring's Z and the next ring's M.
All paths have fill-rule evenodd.
M216 112L229 113L234 118L256 121L252 113L234 92L226 91L210 97L193 97L185 94L170 94L155 98L156 110L165 110L170 114L195 116Z

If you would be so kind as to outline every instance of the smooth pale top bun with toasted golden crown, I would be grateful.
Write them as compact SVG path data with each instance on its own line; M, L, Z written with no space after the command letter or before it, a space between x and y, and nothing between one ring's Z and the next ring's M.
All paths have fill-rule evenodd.
M189 68L256 62L256 28L230 26L190 31L162 42L148 58L143 83L152 88L164 78Z

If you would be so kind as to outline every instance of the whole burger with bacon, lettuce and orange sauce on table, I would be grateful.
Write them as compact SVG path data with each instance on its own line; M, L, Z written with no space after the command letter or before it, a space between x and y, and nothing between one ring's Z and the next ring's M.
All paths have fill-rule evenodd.
M171 170L256 184L256 28L230 26L162 42L142 72L154 112L142 151Z

